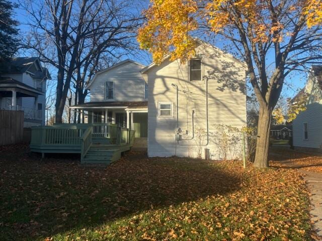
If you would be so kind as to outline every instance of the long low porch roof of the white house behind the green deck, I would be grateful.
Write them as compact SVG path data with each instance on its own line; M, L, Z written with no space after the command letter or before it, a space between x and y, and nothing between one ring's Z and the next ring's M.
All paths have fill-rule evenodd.
M96 109L96 108L131 108L142 109L147 108L147 101L97 101L87 102L84 104L76 104L70 106L72 109Z

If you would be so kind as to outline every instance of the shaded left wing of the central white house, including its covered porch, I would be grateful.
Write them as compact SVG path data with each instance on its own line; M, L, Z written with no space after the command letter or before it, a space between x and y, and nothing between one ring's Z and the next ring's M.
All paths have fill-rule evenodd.
M81 122L112 123L135 130L135 148L147 147L147 83L140 71L145 67L122 61L96 73L87 86L91 102L71 108L82 112Z

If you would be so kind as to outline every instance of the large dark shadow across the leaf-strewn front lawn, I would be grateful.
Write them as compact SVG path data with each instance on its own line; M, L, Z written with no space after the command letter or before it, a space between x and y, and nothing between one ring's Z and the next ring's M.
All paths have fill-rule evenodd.
M127 155L106 169L25 153L0 159L2 235L35 238L239 188L240 177L204 161Z

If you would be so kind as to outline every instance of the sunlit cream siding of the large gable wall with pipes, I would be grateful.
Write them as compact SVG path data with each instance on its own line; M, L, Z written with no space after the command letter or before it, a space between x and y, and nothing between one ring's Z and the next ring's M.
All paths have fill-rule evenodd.
M222 159L218 146L214 144L217 124L241 128L246 125L246 69L232 56L201 44L197 49L203 58L203 75L208 79L208 123L210 142L199 151L196 137L198 128L206 130L206 83L205 81L187 81L188 63L165 60L159 66L146 73L148 81L148 156L189 156L204 155L204 148L210 149L212 159ZM179 89L179 127L184 139L192 138L192 110L194 114L195 137L192 140L175 141L177 127L176 88ZM185 91L185 92L183 92ZM158 102L173 103L173 117L158 117ZM206 144L205 141L202 142ZM199 145L200 146L200 145ZM239 155L241 146L238 146ZM238 153L238 154L237 154ZM235 156L236 156L235 155Z

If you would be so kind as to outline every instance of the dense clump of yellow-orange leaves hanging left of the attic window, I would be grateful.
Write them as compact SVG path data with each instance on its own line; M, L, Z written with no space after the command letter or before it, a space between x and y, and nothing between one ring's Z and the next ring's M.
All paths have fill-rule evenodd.
M196 12L193 0L151 0L150 8L144 13L147 21L138 32L140 47L149 50L156 63L169 53L172 60L180 58L184 62L194 55L195 41L189 32L198 27L192 17Z

